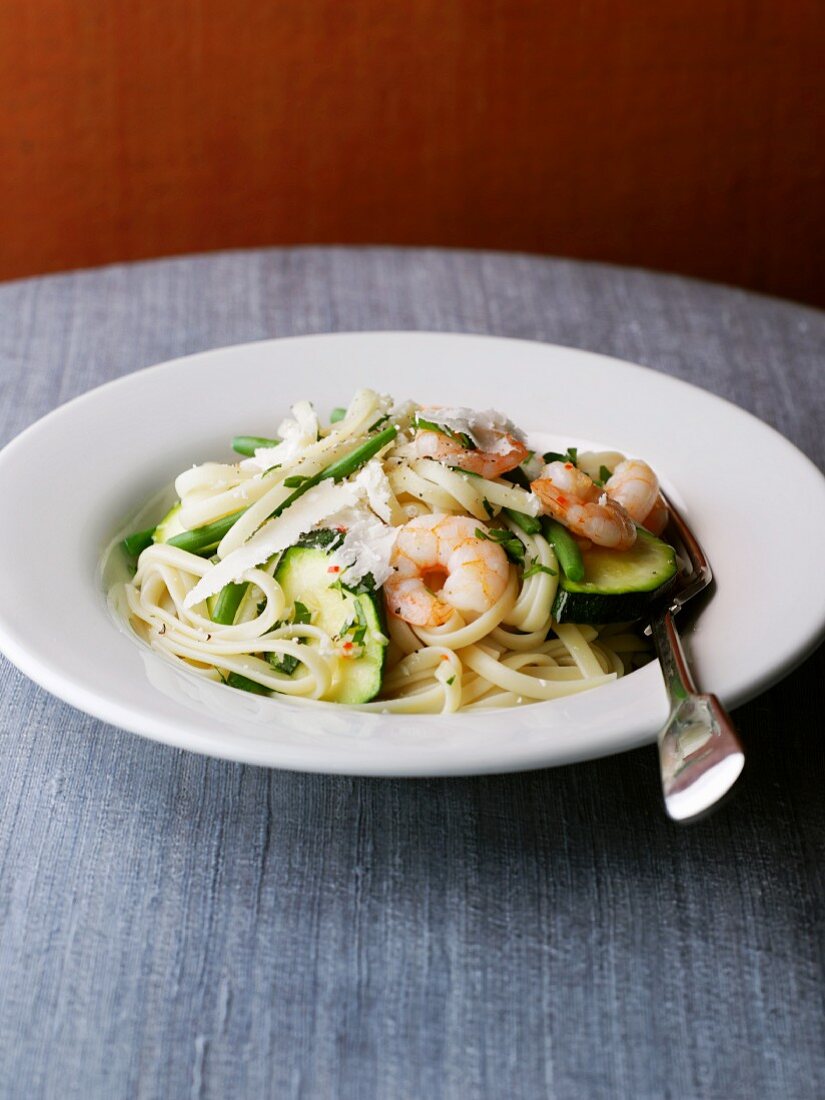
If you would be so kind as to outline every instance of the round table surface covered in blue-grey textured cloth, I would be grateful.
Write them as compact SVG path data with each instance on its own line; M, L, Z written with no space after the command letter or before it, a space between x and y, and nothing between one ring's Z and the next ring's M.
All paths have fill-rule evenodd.
M0 442L175 355L383 328L646 363L825 462L821 314L380 249L0 287ZM1 661L0 1094L822 1097L822 683L821 652L737 712L738 795L682 829L652 750L503 778L270 772L106 726Z

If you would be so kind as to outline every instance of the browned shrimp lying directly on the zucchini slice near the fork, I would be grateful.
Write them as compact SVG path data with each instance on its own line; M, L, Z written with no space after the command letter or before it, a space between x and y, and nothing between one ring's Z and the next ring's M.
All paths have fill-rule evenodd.
M626 509L572 462L549 463L530 488L547 515L596 546L629 550L636 541Z

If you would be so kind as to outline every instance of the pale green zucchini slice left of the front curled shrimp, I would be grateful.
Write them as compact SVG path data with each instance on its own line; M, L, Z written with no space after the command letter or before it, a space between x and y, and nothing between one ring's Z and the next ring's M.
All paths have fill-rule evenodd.
M275 580L284 590L288 608L302 604L312 626L329 634L337 646L340 644L337 675L323 698L369 703L381 691L387 648L381 597L372 590L354 593L344 588L339 574L330 572L330 557L320 546L299 544L285 550ZM352 656L345 656L345 648Z

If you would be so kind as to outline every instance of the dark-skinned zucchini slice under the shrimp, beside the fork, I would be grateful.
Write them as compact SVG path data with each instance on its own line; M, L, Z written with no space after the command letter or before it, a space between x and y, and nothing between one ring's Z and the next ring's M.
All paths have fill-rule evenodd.
M638 528L629 550L592 547L582 554L584 580L563 573L553 603L557 623L632 623L675 581L673 547Z

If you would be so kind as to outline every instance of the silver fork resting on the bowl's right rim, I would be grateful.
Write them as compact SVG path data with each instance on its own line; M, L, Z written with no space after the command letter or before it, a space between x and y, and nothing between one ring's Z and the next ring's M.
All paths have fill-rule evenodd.
M682 586L654 610L653 639L670 698L670 717L659 734L664 809L678 822L707 813L734 785L745 754L725 708L715 695L700 694L691 675L673 616L713 580L711 565L693 532L670 501L671 530L690 562Z

